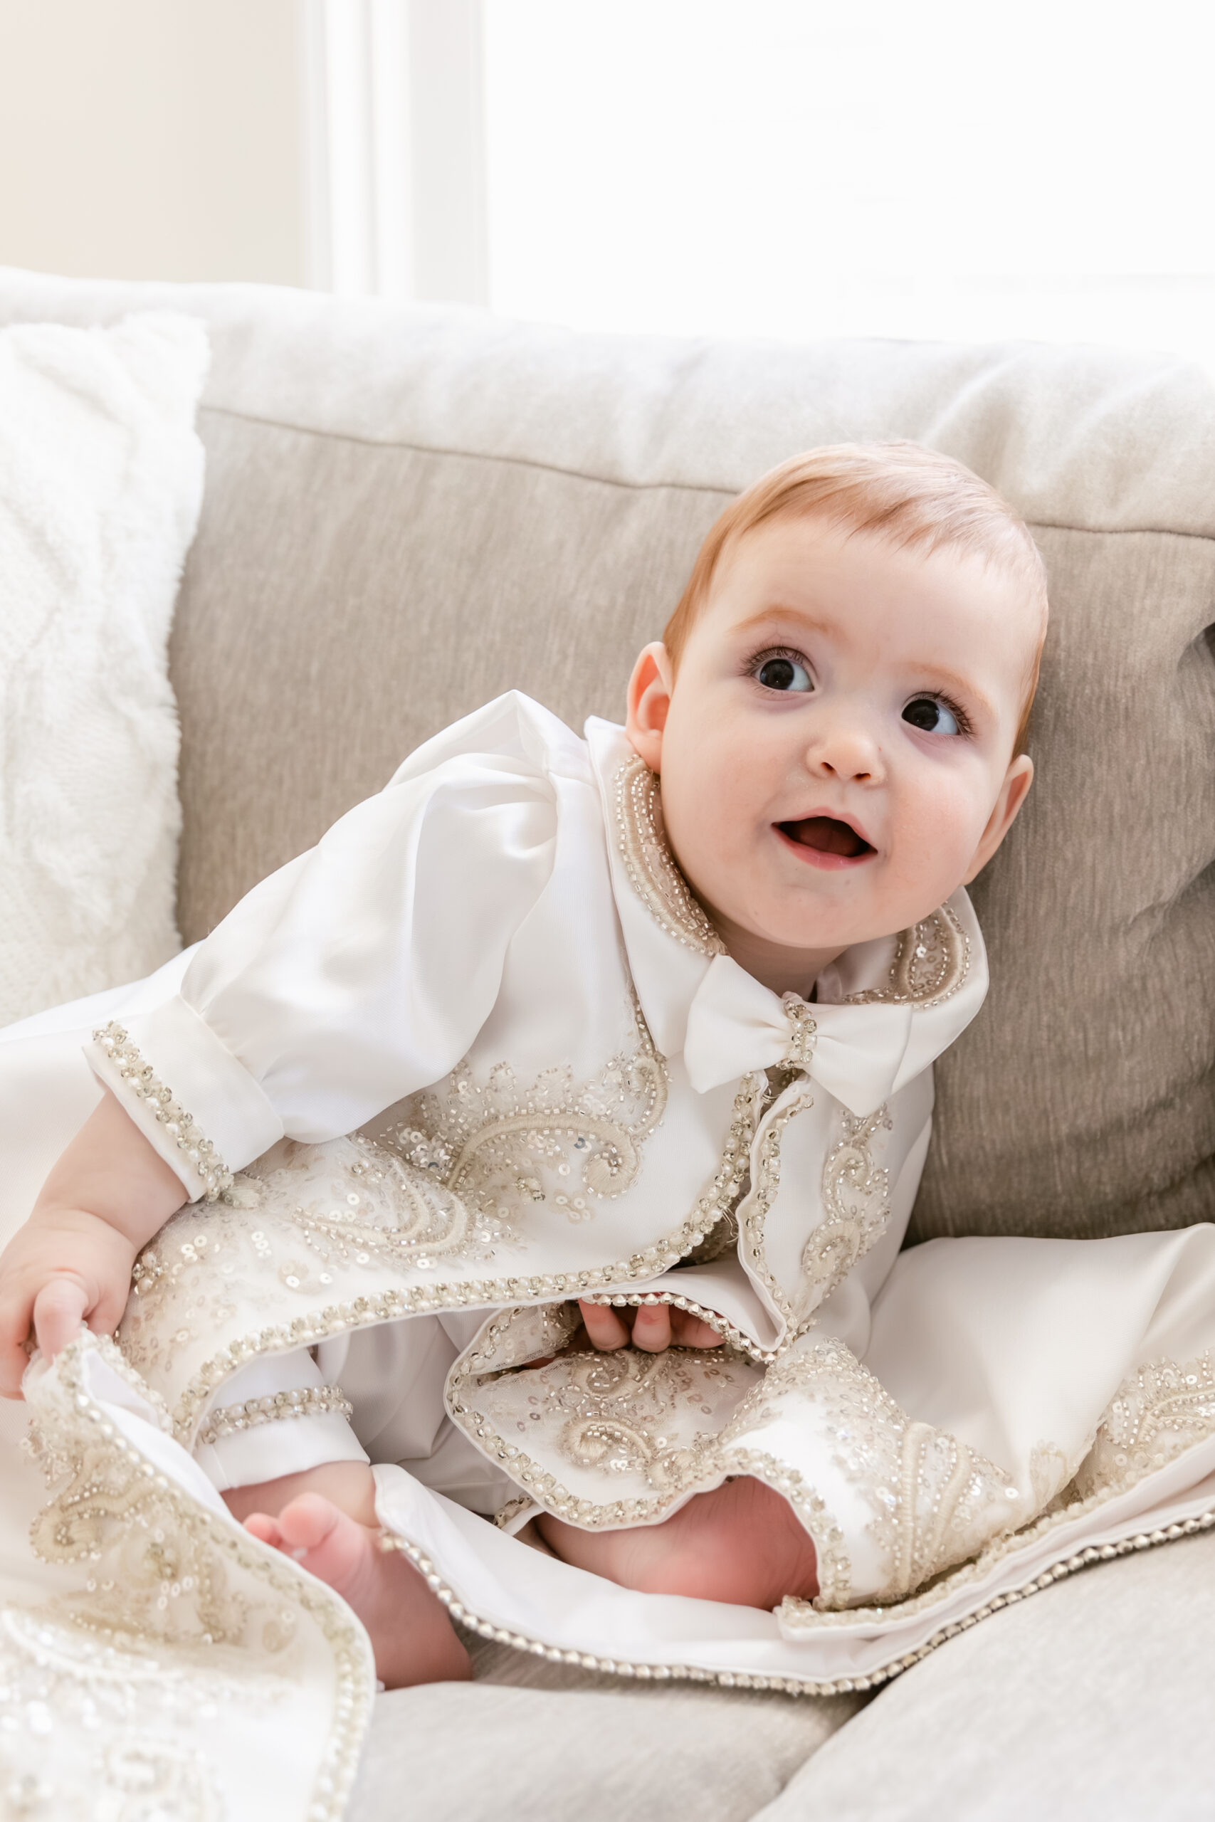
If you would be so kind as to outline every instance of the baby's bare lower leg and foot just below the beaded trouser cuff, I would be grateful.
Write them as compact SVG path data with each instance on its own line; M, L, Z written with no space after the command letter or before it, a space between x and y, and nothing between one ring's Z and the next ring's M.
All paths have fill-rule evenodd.
M366 1463L328 1461L231 1489L224 1500L246 1530L295 1558L353 1607L388 1689L472 1676L446 1607L401 1551L379 1547L375 1479Z

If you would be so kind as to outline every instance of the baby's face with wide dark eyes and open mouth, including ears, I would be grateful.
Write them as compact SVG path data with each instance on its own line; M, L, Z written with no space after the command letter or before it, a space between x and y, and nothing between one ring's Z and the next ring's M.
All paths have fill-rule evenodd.
M727 547L674 683L661 645L638 660L628 732L745 966L893 935L978 873L1033 776L1038 632L1024 585L953 550L818 519Z

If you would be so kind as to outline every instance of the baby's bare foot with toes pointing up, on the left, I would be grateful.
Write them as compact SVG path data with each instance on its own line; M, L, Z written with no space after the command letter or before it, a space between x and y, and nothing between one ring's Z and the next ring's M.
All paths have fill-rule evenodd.
M379 1530L361 1525L317 1492L291 1500L277 1518L253 1512L244 1525L353 1607L372 1640L375 1673L384 1687L472 1676L468 1653L446 1609L401 1551L379 1547Z

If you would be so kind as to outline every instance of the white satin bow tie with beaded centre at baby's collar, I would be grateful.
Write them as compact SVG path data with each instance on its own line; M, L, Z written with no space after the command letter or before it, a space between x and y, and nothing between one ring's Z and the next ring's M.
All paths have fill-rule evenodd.
M807 1006L792 995L780 1000L729 955L718 955L689 1008L683 1062L701 1095L749 1070L798 1064L863 1119L918 1075L936 1048L931 1040L913 1042L911 1006Z

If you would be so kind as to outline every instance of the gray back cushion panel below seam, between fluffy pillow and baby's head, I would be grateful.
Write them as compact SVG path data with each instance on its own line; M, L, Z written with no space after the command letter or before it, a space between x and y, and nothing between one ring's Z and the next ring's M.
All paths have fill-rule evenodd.
M619 714L656 603L727 497L213 410L202 435L208 499L171 643L186 940L503 689L579 727Z

